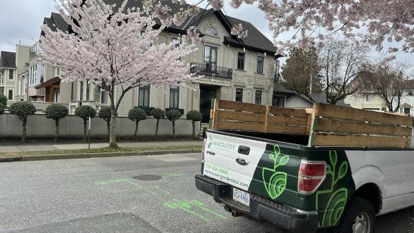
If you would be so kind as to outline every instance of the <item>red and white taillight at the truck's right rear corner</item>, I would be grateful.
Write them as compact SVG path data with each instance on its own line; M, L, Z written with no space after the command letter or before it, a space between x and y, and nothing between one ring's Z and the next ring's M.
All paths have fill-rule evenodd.
M313 194L326 177L325 162L300 161L298 191L302 194Z

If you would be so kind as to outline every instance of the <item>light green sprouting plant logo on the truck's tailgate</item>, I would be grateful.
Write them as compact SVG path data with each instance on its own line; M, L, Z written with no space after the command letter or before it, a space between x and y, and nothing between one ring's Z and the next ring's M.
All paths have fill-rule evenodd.
M263 168L262 178L264 188L271 199L276 199L286 189L286 181L288 179L286 172L279 172L277 168L286 165L289 161L289 156L280 156L279 145L273 147L273 154L269 154L269 159L273 161L273 168ZM269 177L270 178L267 178Z

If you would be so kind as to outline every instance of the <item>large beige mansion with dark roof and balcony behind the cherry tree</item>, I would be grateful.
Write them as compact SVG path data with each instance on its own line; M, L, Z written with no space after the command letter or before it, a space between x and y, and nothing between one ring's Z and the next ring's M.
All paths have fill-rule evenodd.
M119 4L119 0L105 0ZM168 1L172 4L171 1ZM128 6L139 7L141 1L129 1ZM172 5L179 8L178 4ZM211 99L225 99L270 105L273 101L273 77L276 48L262 32L251 23L226 16L221 11L206 10L187 19L181 26L170 26L158 37L157 43L171 43L179 34L185 34L190 26L196 26L204 34L199 50L186 57L191 63L188 72L203 74L204 77L186 83L188 88L175 85L146 85L130 90L119 106L119 115L127 115L134 107L151 110L177 109L182 113L199 110L203 121L208 121ZM199 20L199 18L203 17ZM199 23L197 24L197 22ZM52 13L43 23L49 27L67 31L68 25L59 14ZM243 39L231 35L233 25L242 23L248 30ZM70 112L79 105L100 108L108 105L108 94L96 88L89 81L63 83L59 79L59 68L40 63L37 59L38 44L30 48L29 97L30 101L57 102L68 104Z

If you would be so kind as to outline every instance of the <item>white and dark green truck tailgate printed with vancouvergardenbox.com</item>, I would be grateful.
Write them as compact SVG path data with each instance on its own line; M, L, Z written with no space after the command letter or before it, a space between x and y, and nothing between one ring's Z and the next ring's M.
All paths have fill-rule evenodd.
M237 134L208 131L206 136L205 176L296 207L299 149Z

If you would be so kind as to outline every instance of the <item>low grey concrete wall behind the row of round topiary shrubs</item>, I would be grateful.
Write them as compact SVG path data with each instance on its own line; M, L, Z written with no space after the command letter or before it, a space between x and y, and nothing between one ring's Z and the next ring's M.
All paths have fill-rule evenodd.
M60 138L77 139L83 137L83 120L69 115L60 122ZM139 122L137 135L145 138L155 136L156 119L148 118ZM105 138L107 135L106 121L95 117L91 122L91 138ZM199 125L196 132L199 132ZM130 139L134 134L135 122L127 117L118 117L117 138ZM175 123L175 133L179 137L190 137L193 128L190 121L179 119ZM168 119L159 121L158 135L172 137L172 123ZM30 138L52 138L55 136L55 121L46 119L44 114L36 114L28 117L27 136ZM21 137L21 121L12 114L0 115L0 139Z

